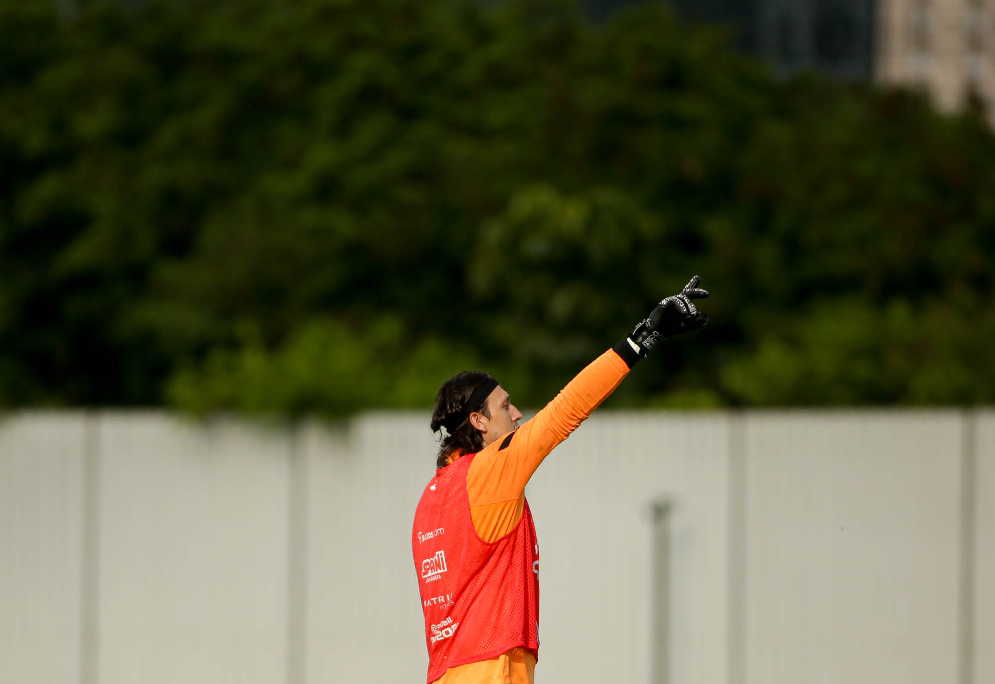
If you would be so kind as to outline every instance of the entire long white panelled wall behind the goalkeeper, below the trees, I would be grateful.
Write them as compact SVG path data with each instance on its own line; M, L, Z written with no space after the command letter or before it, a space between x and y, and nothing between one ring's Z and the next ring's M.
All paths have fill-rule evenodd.
M419 682L425 416L0 422L0 682ZM539 682L995 681L995 412L595 414L527 491Z

